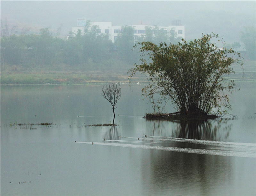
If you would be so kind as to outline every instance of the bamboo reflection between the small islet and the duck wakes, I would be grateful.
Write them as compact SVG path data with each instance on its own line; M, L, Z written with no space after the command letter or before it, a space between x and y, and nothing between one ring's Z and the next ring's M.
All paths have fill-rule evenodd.
M229 136L232 123L228 121L226 119L175 122L149 120L151 128L147 126L147 129L149 136L221 141Z

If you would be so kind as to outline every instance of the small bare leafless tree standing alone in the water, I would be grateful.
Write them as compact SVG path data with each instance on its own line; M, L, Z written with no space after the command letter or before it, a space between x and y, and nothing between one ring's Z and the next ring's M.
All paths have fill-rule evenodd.
M117 84L115 83L109 83L107 86L103 86L102 88L102 94L101 96L105 99L108 100L108 102L112 105L113 107L113 114L114 114L114 119L113 119L113 125L115 125L115 109L116 109L116 103L117 101L121 98L121 87L120 87L120 82Z

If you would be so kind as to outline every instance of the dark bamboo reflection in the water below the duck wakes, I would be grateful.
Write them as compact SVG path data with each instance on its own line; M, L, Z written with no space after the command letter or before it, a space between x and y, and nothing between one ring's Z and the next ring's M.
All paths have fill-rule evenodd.
M152 191L156 190L156 186L161 186L163 191L160 193L166 194L164 190L167 188L170 195L246 195L248 192L245 190L251 189L250 185L241 182L245 190L236 188L236 192L233 192L232 189L238 184L238 174L234 172L233 164L237 160L233 157L223 159L201 154L184 153L179 156L175 153L152 152L150 159L150 162L154 162L150 175ZM247 169L242 164L240 166L246 172ZM253 176L249 175L247 179L253 180ZM239 177L245 178L243 175ZM178 191L175 187L182 189Z

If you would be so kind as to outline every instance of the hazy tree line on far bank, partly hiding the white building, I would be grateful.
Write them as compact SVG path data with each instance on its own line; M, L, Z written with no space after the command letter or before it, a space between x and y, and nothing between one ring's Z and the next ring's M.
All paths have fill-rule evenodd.
M180 40L174 31L164 32L157 26L147 27L146 35L134 37L132 26L123 26L120 34L112 43L107 34L98 33L98 26L86 22L84 34L69 32L68 38L52 36L50 27L41 28L39 34L17 35L9 32L7 25L1 24L1 68L20 66L23 68L41 68L63 66L86 70L122 69L138 62L140 55L133 46L137 42L178 43ZM153 32L157 32L153 36ZM132 50L133 49L133 50ZM128 69L130 68L128 67Z

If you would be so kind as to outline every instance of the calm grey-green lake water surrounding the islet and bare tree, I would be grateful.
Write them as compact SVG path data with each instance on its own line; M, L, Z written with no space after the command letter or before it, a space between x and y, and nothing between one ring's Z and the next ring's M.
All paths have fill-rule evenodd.
M255 82L239 85L238 119L181 123L144 119L144 85L123 84L115 127L86 126L113 120L102 85L1 86L1 195L255 195Z

